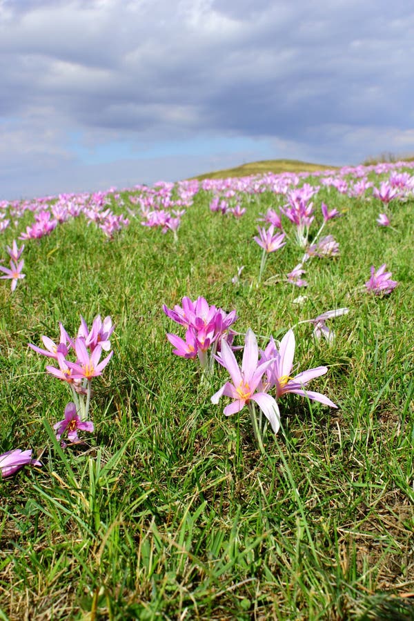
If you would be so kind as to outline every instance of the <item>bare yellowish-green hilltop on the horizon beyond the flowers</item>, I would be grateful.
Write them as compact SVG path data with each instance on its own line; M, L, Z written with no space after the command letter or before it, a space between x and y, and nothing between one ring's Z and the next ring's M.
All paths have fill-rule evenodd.
M299 159L264 159L262 161L252 161L235 168L224 168L197 175L193 179L226 179L227 177L248 177L249 175L259 175L264 172L314 172L326 168L337 170L339 166L328 166L326 164L311 164Z

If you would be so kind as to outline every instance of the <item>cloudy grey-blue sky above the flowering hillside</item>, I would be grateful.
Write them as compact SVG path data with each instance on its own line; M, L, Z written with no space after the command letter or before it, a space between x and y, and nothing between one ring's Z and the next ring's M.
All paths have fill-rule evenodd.
M0 0L0 199L414 154L413 60L406 0Z

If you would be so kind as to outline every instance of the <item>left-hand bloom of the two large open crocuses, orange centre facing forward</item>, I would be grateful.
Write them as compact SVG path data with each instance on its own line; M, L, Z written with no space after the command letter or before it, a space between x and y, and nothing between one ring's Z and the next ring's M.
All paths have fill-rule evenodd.
M226 382L224 386L221 386L219 391L211 397L211 402L217 404L223 395L234 399L233 403L224 408L224 414L230 416L242 410L250 401L254 401L270 422L273 431L277 433L280 426L277 403L265 391L259 389L256 392L257 388L262 386L262 375L272 361L266 360L262 364L258 363L259 350L255 333L250 328L246 333L242 368L239 368L232 349L224 339L221 340L220 358L221 364L226 367L233 384Z

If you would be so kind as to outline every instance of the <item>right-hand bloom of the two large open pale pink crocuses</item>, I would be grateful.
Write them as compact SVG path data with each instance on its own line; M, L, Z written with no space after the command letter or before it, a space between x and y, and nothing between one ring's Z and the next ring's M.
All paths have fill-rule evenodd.
M302 397L308 397L308 399L319 401L325 405L331 406L331 408L337 408L337 406L325 395L321 393L315 393L307 391L306 385L311 382L315 377L324 375L328 368L326 366L317 366L316 368L310 368L308 371L302 371L295 377L292 377L293 357L295 356L295 335L293 330L289 330L282 341L280 342L279 351L277 351L273 338L266 349L264 350L261 362L270 361L268 368L266 368L266 380L267 385L264 387L266 390L270 388L276 388L276 398L279 399L286 393L295 393L296 395L302 395Z

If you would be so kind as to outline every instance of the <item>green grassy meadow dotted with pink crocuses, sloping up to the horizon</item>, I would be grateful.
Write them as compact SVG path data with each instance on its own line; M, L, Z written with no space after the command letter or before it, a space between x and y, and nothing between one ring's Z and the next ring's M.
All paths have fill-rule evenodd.
M0 201L0 619L414 618L413 166Z

